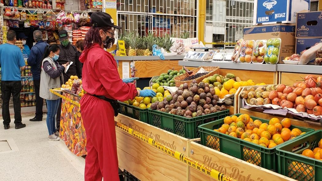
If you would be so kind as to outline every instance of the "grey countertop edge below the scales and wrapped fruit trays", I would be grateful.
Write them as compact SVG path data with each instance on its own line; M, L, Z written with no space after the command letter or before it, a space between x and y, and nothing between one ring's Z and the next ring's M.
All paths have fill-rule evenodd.
M221 69L240 69L256 71L277 71L277 65L253 64L253 63L232 63L232 62L197 62L179 61L179 65L188 67L218 66Z

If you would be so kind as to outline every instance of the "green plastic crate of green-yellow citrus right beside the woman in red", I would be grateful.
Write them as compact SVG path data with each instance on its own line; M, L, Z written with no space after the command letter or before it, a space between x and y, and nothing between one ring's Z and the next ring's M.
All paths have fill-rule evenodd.
M118 113L131 117L133 119L137 119L139 121L145 122L147 124L150 124L148 109L141 109L132 105L128 105L124 102L119 102L119 103L120 103L120 109L118 110Z

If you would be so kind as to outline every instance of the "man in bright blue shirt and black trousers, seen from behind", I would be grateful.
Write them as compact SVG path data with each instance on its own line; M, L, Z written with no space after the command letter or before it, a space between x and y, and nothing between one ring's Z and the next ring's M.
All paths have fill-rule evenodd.
M17 39L13 30L7 32L7 40L8 43L0 45L2 118L4 128L9 129L11 122L9 100L12 94L15 129L20 129L26 127L21 122L20 107L20 90L22 87L20 69L25 67L25 63L20 48L14 45Z

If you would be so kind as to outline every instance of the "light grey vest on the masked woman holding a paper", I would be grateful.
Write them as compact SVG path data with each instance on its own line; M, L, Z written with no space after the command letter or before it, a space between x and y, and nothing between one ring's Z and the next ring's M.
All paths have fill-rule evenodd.
M46 100L57 100L60 97L56 96L55 94L51 93L51 89L56 89L61 87L61 78L62 76L58 76L57 78L53 79L50 77L48 73L45 72L43 68L43 63L45 61L48 61L51 66L57 70L57 66L52 60L52 58L47 57L43 59L42 67L41 67L41 73L40 73L40 90L39 90L39 96Z

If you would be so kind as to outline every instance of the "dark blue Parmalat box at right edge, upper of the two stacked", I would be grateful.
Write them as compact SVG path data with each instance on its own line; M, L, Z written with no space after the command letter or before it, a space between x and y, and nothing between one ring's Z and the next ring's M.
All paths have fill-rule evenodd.
M322 11L298 13L297 18L297 38L322 37Z

